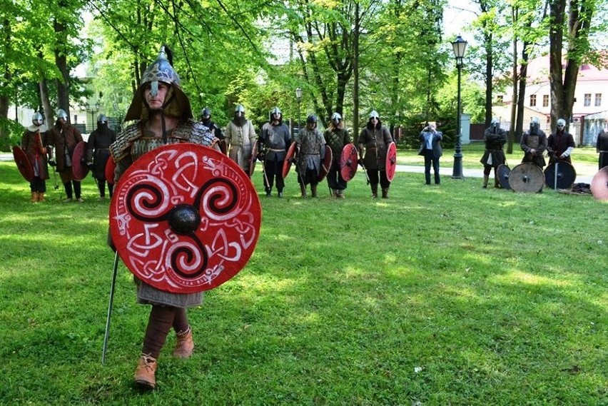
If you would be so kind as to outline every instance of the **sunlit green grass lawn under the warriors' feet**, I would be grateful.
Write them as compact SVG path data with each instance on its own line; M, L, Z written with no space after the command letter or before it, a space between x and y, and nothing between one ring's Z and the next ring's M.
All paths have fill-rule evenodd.
M148 308L123 265L101 366L108 202L87 178L83 204L52 180L29 203L0 163L0 404L608 405L608 206L443 172L397 173L388 200L358 173L343 201L299 198L292 172L250 263L189 311L193 357L171 334L141 394Z

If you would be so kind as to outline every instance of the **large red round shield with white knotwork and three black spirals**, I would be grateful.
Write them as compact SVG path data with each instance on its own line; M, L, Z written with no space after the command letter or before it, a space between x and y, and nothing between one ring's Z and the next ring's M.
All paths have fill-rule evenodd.
M173 293L209 290L248 262L262 209L247 173L192 143L161 146L123 173L110 204L110 233L133 275Z

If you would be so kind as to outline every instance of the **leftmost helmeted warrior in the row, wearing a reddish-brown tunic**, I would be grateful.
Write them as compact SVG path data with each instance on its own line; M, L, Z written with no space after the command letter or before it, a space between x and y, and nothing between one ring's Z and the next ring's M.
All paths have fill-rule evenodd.
M21 149L24 150L34 169L34 179L29 183L32 202L43 202L46 193L46 179L49 179L48 158L52 147L49 145L49 131L43 123L42 114L36 111L31 118L31 126L21 136Z

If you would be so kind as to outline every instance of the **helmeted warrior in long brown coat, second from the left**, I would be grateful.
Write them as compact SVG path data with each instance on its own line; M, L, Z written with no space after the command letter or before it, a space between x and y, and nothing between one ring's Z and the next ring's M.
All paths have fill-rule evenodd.
M72 191L76 195L76 201L82 203L80 181L74 178L72 171L72 153L78 143L83 141L82 134L78 128L69 123L68 114L61 108L57 111L57 121L49 134L49 143L55 148L56 161L49 161L51 166L56 165L61 182L64 183L66 191L66 202L72 201Z

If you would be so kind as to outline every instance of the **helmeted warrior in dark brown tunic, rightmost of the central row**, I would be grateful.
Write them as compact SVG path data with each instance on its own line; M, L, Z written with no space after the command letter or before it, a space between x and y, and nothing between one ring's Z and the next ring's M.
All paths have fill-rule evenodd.
M390 181L386 177L386 153L391 142L390 131L382 126L378 112L373 110L358 139L360 161L368 172L373 198L378 198L378 183L382 188L382 198L388 198Z

